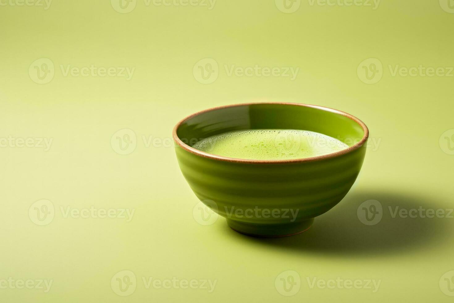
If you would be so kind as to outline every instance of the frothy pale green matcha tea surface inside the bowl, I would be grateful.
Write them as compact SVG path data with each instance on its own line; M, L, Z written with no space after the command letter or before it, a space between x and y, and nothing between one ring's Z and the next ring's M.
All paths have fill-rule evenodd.
M308 130L247 129L217 134L198 141L192 147L230 158L277 160L331 154L348 148L348 145Z

